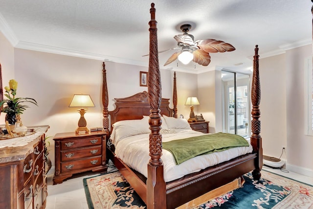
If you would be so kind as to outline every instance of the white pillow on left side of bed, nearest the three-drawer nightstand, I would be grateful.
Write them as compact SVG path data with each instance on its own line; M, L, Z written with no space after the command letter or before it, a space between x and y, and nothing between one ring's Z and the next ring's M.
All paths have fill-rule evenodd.
M112 127L112 134L110 139L114 145L117 144L119 140L126 137L138 135L138 134L149 134L149 117L143 117L140 120L121 120L115 122Z

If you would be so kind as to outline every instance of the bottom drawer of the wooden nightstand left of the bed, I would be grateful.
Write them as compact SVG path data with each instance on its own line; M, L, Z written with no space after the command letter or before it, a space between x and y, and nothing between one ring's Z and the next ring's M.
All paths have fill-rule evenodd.
M101 156L76 161L61 162L61 172L79 170L81 168L93 167L95 165L101 165Z

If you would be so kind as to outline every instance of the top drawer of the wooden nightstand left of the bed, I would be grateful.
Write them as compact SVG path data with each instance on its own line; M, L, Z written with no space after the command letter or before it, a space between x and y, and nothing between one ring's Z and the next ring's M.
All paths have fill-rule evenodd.
M101 144L102 144L101 137L90 137L85 139L68 139L61 141L61 150Z

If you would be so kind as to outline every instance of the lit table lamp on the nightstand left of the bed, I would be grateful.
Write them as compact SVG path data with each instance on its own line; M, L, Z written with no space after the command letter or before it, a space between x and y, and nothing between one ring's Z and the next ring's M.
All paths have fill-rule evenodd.
M78 120L78 128L75 131L75 134L78 134L80 131L85 131L86 134L89 133L87 128L87 121L84 117L87 109L85 107L94 107L92 99L89 94L74 94L72 101L68 107L80 107L81 109L77 110L80 113L80 118Z

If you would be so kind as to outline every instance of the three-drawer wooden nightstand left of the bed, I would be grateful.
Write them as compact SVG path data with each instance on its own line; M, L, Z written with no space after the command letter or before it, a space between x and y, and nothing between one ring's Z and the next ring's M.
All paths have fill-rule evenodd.
M107 171L107 132L95 131L76 135L75 132L59 133L55 141L55 173L53 184L61 184L73 174L85 171Z

